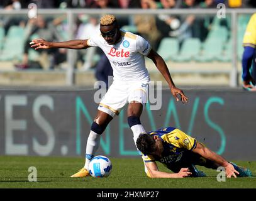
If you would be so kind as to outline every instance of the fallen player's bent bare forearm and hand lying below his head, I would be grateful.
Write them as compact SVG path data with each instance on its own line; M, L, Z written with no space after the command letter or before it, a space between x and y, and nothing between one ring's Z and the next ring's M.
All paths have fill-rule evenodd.
M181 168L178 173L159 171L155 162L146 163L146 166L151 178L184 178L192 174L189 168Z

